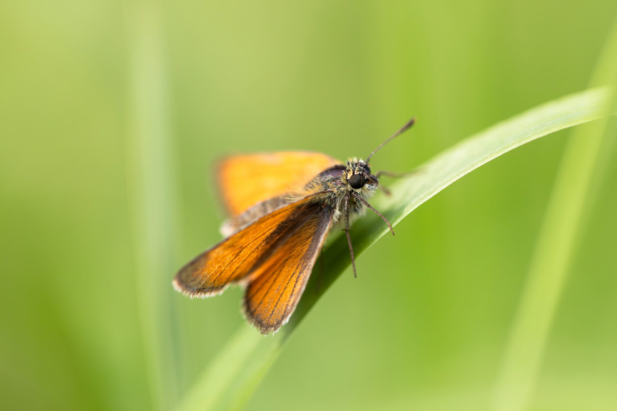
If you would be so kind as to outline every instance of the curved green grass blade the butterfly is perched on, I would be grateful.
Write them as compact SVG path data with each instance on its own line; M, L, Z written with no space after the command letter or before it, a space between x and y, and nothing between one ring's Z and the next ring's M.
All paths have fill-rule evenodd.
M607 89L590 89L566 96L501 122L426 162L415 175L391 186L392 195L378 197L373 205L393 225L423 202L475 168L505 152L564 128L597 120L606 115L603 104ZM615 112L611 109L611 113ZM360 255L388 231L381 218L366 215L354 225L354 249ZM238 409L246 404L259 381L280 352L283 343L307 315L315 302L349 266L346 239L339 236L323 252L325 272L317 288L309 280L296 312L274 338L255 330L242 331L215 357L196 384L183 397L178 410ZM223 379L223 381L222 381ZM213 389L212 387L216 387Z

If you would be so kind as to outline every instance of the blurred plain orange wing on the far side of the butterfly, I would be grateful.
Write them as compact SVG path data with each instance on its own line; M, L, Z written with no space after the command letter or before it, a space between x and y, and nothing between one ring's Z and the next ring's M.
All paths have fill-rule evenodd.
M341 162L318 152L247 154L222 160L218 180L223 201L235 217L252 205L306 185L336 164Z

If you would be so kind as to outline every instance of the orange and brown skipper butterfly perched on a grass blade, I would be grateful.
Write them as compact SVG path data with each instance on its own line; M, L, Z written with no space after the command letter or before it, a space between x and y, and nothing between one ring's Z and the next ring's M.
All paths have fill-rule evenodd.
M363 159L346 164L316 152L274 152L228 157L218 165L219 185L231 218L225 238L176 274L173 286L193 297L212 297L230 284L244 286L242 310L262 334L278 331L296 309L315 260L333 226L344 225L351 262L350 220L370 209L367 201L381 173L369 160L404 127ZM387 174L387 173L386 173Z

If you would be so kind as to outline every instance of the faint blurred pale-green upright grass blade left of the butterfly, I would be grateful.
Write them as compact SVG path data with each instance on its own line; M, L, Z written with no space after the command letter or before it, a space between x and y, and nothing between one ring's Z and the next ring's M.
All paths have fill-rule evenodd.
M167 77L160 9L135 0L127 6L130 92L127 130L127 185L135 254L135 280L144 361L152 409L176 402L172 347L172 304L167 273L173 268L175 224Z

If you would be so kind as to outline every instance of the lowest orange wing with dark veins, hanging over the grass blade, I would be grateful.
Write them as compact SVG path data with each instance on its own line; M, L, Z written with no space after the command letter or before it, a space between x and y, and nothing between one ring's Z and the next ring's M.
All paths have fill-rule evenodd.
M331 212L320 209L251 274L244 314L262 334L277 331L291 317L331 225Z

